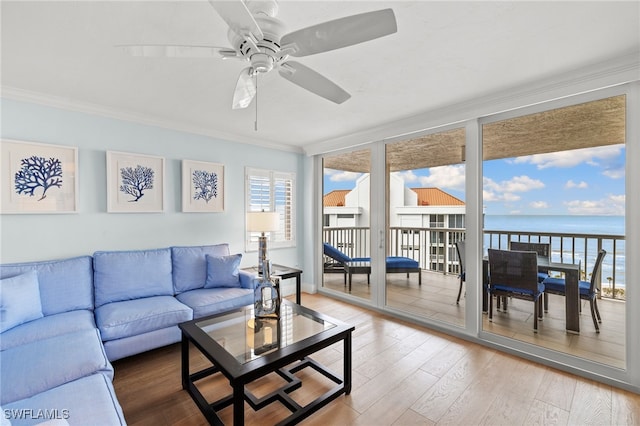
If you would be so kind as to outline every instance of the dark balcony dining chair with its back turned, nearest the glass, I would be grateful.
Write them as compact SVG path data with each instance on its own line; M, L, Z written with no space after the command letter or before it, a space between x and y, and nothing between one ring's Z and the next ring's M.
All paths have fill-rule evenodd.
M489 321L493 321L493 295L533 302L533 332L542 318L542 294L538 282L538 254L535 251L489 249Z

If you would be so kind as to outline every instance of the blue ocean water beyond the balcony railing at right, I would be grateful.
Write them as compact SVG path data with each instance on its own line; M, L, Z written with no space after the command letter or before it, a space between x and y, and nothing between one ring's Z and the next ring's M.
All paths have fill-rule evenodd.
M544 216L544 215L485 215L484 229L491 231L526 231L542 233L566 233L566 234L588 234L588 235L616 235L624 236L624 216ZM534 241L534 240L532 240ZM537 240L536 240L537 241ZM548 242L544 237L542 242ZM586 256L584 253L585 244L587 246ZM613 257L613 241L605 239L602 248L607 251L602 262L602 285L609 285L608 277L614 277L615 265L615 285L622 288L625 285L625 244L618 240L615 243L615 262ZM494 247L497 240L493 240ZM508 247L506 237L501 241L502 247ZM485 236L485 249L489 246L489 239ZM593 263L597 256L597 239L576 238L575 261L580 262L582 270L586 269L591 273ZM571 259L571 244L565 239L561 246L560 238L553 238L551 243L551 260L567 261ZM586 266L585 266L586 265ZM587 277L587 279L589 279Z

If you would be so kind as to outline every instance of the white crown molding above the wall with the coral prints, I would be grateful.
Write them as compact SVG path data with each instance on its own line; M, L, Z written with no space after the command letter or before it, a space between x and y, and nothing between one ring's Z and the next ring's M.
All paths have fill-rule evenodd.
M253 138L239 138L237 135L232 135L225 132L213 131L199 126L194 126L188 123L182 123L178 121L171 121L166 119L159 119L150 115L139 114L131 111L123 111L115 108L106 107L103 105L93 104L89 102L78 101L71 98L65 98L55 95L49 95L46 93L32 92L24 89L19 89L10 86L0 86L0 93L2 98L11 99L20 102L27 102L31 104L42 105L51 108L58 108L67 111L79 112L82 114L95 115L105 118L111 118L114 120L128 121L136 124L142 124L146 126L159 127L168 130L174 130L185 133L192 133L201 136L207 136L214 139L225 140L230 142L239 142L248 145L256 145L262 148L275 149L278 151L303 153L302 148L280 144L277 142L253 139Z

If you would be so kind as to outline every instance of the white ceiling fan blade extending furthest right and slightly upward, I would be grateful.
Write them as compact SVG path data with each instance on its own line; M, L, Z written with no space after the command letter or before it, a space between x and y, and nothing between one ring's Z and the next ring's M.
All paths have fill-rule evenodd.
M393 34L398 30L392 9L383 9L327 21L285 34L283 49L293 48L291 56L308 56Z

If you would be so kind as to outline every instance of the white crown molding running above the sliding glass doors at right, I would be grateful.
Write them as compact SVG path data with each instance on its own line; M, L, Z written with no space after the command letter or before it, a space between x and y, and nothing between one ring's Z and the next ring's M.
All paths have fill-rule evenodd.
M481 98L424 111L404 119L334 139L307 144L305 154L318 155L382 140L402 140L428 130L505 111L640 81L640 52L597 62L553 77L531 81Z

